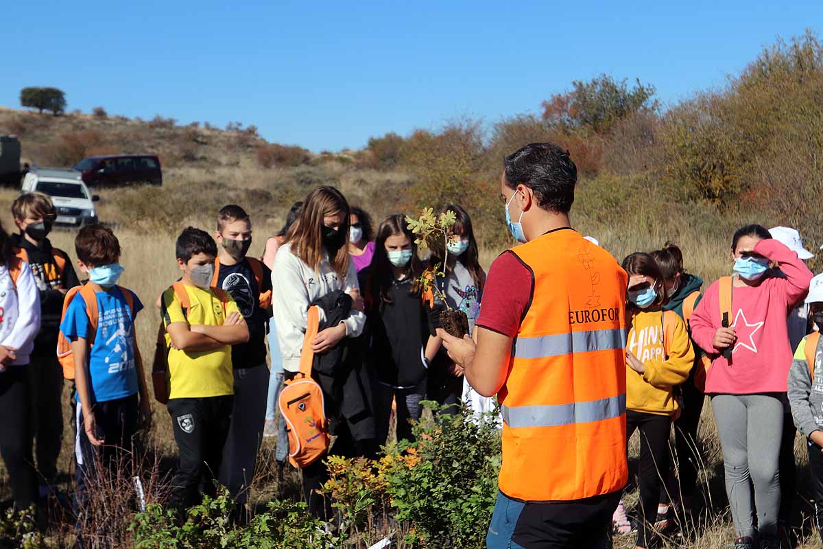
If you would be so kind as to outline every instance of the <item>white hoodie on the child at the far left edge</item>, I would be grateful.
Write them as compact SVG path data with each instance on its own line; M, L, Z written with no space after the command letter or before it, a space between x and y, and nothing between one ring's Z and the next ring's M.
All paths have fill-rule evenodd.
M0 345L16 350L12 365L26 365L40 331L40 291L29 263L21 262L17 290L6 265L0 266Z

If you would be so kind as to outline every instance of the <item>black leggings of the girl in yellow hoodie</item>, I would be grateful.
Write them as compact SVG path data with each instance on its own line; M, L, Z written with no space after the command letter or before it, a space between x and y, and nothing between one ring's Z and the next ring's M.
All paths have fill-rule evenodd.
M628 441L635 430L640 431L640 462L638 467L640 502L638 509L637 545L655 547L653 534L658 517L661 475L667 474L668 436L672 418L645 412L625 412L625 437Z

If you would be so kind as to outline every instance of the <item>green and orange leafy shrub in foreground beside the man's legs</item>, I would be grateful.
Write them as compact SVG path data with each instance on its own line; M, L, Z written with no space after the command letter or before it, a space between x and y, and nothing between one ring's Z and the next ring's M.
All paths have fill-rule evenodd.
M435 402L425 406L436 412ZM413 525L405 536L413 547L481 547L500 470L495 415L478 422L466 408L453 416L434 413L414 426L416 442L389 444L379 462L330 459L324 488L335 497L343 523L359 532L389 506L395 522Z

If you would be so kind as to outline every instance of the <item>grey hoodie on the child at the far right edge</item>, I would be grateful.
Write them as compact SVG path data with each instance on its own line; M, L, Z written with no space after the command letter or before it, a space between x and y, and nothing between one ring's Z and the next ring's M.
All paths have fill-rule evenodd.
M807 336L808 337L808 336ZM823 337L815 350L815 379L809 375L806 361L807 337L803 337L788 370L788 402L792 407L794 425L807 438L815 430L823 430Z

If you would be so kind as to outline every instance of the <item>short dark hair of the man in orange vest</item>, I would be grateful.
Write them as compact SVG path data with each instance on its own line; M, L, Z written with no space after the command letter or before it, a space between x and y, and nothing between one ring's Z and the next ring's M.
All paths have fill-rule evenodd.
M506 156L503 163L506 186L526 185L544 210L569 212L577 184L577 166L569 151L551 143L530 143Z

